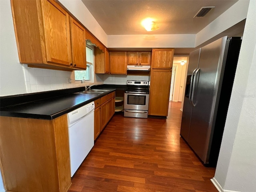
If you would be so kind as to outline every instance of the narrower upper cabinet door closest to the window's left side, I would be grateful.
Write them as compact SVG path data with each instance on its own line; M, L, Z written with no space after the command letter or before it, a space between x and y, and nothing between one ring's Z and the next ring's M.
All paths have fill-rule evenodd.
M76 68L86 70L85 28L70 17L70 32L72 45L72 64Z

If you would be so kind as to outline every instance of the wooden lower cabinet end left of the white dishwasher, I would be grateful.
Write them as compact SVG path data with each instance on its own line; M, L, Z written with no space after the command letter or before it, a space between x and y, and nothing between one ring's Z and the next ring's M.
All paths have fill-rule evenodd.
M54 120L0 116L7 191L66 192L71 185L67 115Z

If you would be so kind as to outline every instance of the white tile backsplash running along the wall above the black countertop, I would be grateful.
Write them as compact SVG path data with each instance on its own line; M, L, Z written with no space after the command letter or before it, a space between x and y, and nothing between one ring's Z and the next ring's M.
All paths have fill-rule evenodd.
M94 74L94 82L76 84L74 72L30 68L26 64L23 65L23 72L28 93L74 88L86 84L126 85L127 80L149 80L149 76ZM72 79L72 83L68 83L68 78Z

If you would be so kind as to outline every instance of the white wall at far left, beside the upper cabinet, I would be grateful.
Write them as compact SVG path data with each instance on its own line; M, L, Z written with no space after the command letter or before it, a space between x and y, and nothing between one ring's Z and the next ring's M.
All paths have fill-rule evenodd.
M0 0L0 95L26 93L9 0Z

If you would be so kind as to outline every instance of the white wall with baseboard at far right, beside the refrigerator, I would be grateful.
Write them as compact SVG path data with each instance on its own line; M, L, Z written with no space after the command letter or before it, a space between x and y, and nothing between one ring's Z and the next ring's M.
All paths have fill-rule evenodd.
M216 173L222 191L256 191L256 1L251 0Z

